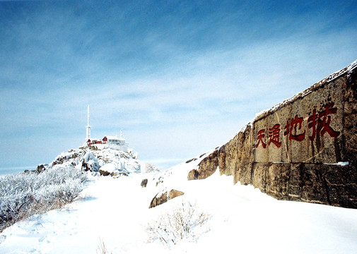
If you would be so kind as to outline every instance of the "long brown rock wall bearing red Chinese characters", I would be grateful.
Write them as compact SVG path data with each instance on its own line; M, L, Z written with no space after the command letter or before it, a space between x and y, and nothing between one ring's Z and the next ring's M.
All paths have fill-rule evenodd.
M188 179L217 167L274 198L357 208L357 61L257 116Z

